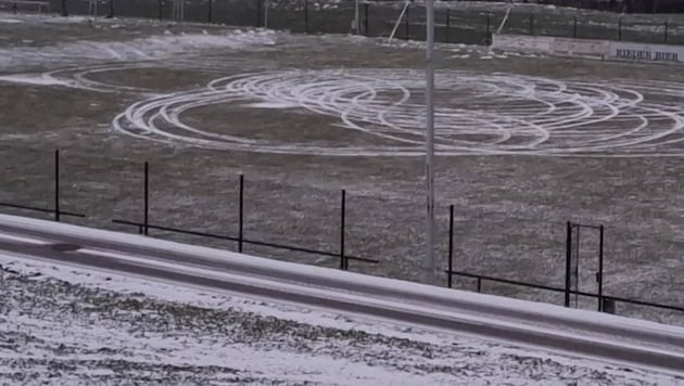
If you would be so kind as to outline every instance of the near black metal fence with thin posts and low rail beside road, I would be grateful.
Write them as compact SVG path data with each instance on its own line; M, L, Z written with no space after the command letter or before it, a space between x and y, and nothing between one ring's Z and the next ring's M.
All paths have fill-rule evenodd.
M28 211L37 211L37 213L45 213L45 214L52 214L53 219L55 221L63 221L62 216L67 216L67 217L77 217L77 218L88 218L86 215L84 214L78 214L78 213L73 213L73 211L67 211L67 210L63 210L61 209L61 202L60 202L60 152L59 150L54 152L54 173L53 173L53 178L54 178L54 191L52 192L52 200L54 201L54 208L43 208L43 207L38 207L35 205L23 205L23 204L16 204L16 203L8 203L8 202L0 202L0 207L5 207L5 208L12 208L12 209L21 209L21 210L28 210ZM299 253L305 253L305 254L312 254L312 255L319 255L319 256L326 256L326 257L332 257L332 258L337 258L339 259L339 268L341 270L349 270L349 261L358 261L362 263L370 263L370 265L379 265L381 263L381 261L379 261L378 259L371 259L371 258L366 258L366 257L359 257L359 256L354 256L351 254L346 254L345 253L345 213L346 213L346 191L342 190L341 191L341 201L340 201L340 244L339 244L339 250L338 252L331 252L331 250L321 250L321 249L315 249L315 248L308 248L308 247L302 247L302 246L296 246L296 245L291 245L291 244L281 244L281 243L274 243L274 242L269 242L269 241L263 241L263 240L256 240L256 239L251 239L251 237L246 237L244 235L244 177L242 175L240 175L240 189L239 189L239 206L238 206L238 211L239 211L239 216L238 216L238 235L226 235L226 234L217 234L217 233L211 233L211 232L203 232L203 231L195 231L195 230L188 230L188 229L181 229L181 228L176 228L176 227L168 227L168 226L164 226L164 224L156 224L156 223L151 223L150 222L150 205L149 205L149 194L150 194L150 166L149 163L144 163L144 168L143 168L143 176L142 176L142 183L143 183L143 192L144 192L144 201L143 201L143 206L141 208L141 221L135 221L135 220L126 220L126 219L112 219L111 221L113 223L116 224L123 224L123 226L129 226L129 227L136 227L138 230L139 234L143 234L143 235L150 235L150 230L156 230L156 231L162 231L162 232L172 232L172 233L179 233L179 234L187 234L187 235L193 235L193 236L201 236L201 237L207 237L207 239L216 239L216 240L223 240L223 241L230 241L230 242L235 242L237 244L237 249L238 252L242 253L244 252L244 245L254 245L254 246L263 246L263 247L270 247L270 248L277 248L277 249L283 249L283 250L290 250L290 252L299 252ZM507 285L514 285L514 286L519 286L519 287L524 287L524 288L533 288L533 290L540 290L540 291L546 291L546 292L552 292L552 293L562 293L566 295L566 301L565 301L565 306L569 307L570 304L568 303L568 296L569 295L575 295L575 296L583 296L583 297L590 297L590 298L594 298L597 299L598 301L598 307L597 310L598 311L604 311L604 312L613 312L615 311L615 303L624 303L624 304L630 304L630 305L636 305L636 306L645 306L645 307L653 307L656 309L661 309L661 310L670 310L670 311L676 311L676 312L682 312L684 313L684 307L683 306L676 306L676 305L667 305L667 304L659 304L659 303L654 303L654 301L645 301L645 300L637 300L637 299L630 299L630 298L624 298L624 297L619 297L619 296L612 296L612 295L607 295L603 292L603 226L584 226L584 224L578 224L578 223L571 223L568 222L567 223L568 227L568 243L566 245L567 249L567 254L566 256L568 256L568 258L570 258L570 248L572 247L571 245L571 236L570 236L570 232L572 231L573 227L592 227L592 228L596 228L598 230L600 230L600 258L601 258L601 263L599 265L599 272L597 272L597 278L600 278L599 280L599 288L597 293L591 293L591 292L582 292L579 290L573 290L571 287L571 285L569 284L569 275L571 274L570 270L566 270L566 286L565 287L558 287L558 286L553 286L553 285L545 285L545 284L537 284L537 283L531 283L531 282L524 282L524 281L518 281L518 280L510 280L510 279L504 279L504 278L497 278L494 275L486 275L486 274L479 274L479 273L473 273L473 272L467 272L467 271L461 271L458 269L454 268L454 205L449 206L449 217L448 217L448 252L447 252L447 269L444 270L444 273L446 274L446 279L447 279L447 287L453 287L454 284L454 276L460 276L460 278L468 278L468 279L474 279L476 280L476 291L477 292L482 292L482 283L483 282L492 282L492 283L501 283L501 284L507 284Z

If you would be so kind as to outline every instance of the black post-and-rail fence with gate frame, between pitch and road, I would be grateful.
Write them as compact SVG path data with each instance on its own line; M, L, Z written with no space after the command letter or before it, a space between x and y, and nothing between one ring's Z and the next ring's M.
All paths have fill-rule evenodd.
M46 208L39 205L28 205L28 204L12 203L12 202L0 202L0 207L4 207L8 209L17 209L17 210L27 210L27 211L49 214L52 216L52 218L55 221L64 221L65 218L77 218L77 219L88 220L89 217L84 214L64 209L62 195L65 193L66 189L61 185L61 182L64 179L64 177L62 176L63 170L61 170L60 163L61 163L61 154L60 154L60 151L58 150L53 154L52 163L41 164L41 167L50 166L50 164L52 164L52 167L53 167L52 177L51 177L52 192L50 194L50 198L43 197L43 201L48 201L48 202L51 201L53 203L52 208ZM355 256L353 254L349 254L345 250L346 239L347 239L346 237L347 202L346 202L345 190L341 190L340 196L339 196L339 200L340 200L339 201L340 203L339 222L338 222L339 248L338 250L329 250L329 249L327 250L327 249L321 249L321 248L312 248L312 247L292 245L288 243L278 243L278 242L273 242L268 240L258 240L257 237L250 237L245 235L244 224L246 221L245 221L244 192L245 192L246 183L245 183L245 179L243 175L239 176L237 197L233 197L233 200L238 202L238 205L236 208L236 211L237 211L236 215L238 219L237 234L231 235L231 234L211 233L211 232L204 232L204 231L183 229L181 227L174 227L174 226L168 226L168 224L163 224L163 223L154 223L150 220L151 218L150 216L151 215L150 214L151 211L150 209L151 208L150 206L150 201L151 201L150 200L150 195L151 195L150 164L149 163L144 163L144 164L134 163L134 167L135 165L138 165L139 167L139 172L138 172L139 177L137 180L138 180L138 183L140 184L140 189L138 191L141 192L140 198L142 198L142 205L139 207L139 210L138 210L139 218L138 220L130 219L130 218L127 218L127 219L115 218L115 219L110 219L111 223L126 226L126 227L135 227L137 229L137 232L143 235L152 235L153 233L152 231L159 231L159 232L166 232L166 233L177 233L177 234L199 236L203 239L228 241L228 242L235 243L233 245L236 245L236 249L240 253L245 252L246 245L253 245L253 246L264 246L264 247L269 247L269 248L282 249L287 252L296 252L296 253L303 253L303 254L309 254L309 255L318 255L318 256L324 256L326 258L334 258L339 261L339 268L342 270L350 269L350 260L356 261L359 263L368 263L368 265L381 263L378 259ZM18 172L18 171L14 171L14 172ZM42 181L42 182L45 183L47 181ZM43 186L48 186L48 185L46 184ZM74 185L71 184L71 188L73 189ZM0 194L2 192L0 191ZM72 205L78 205L78 202L75 202L75 203L72 202ZM556 226L561 227L562 224L559 223ZM454 282L456 278L460 278L459 280L474 280L474 290L477 292L484 292L483 283L487 283L487 282L505 284L509 286L517 286L521 288L531 288L535 291L563 295L562 298L560 299L560 304L565 305L566 307L580 307L580 303L577 300L577 298L578 297L588 298L588 299L594 299L594 301L597 303L596 309L598 311L611 312L611 313L616 312L616 304L626 304L626 305L633 305L633 306L649 307L649 308L655 308L659 310L684 312L684 307L681 307L681 306L666 305L666 304L645 301L645 300L638 300L638 299L630 299L630 298L606 294L604 290L605 272L603 268L604 267L604 237L605 237L604 226L581 224L581 223L575 223L575 222L567 222L565 226L566 226L566 235L567 235L565 240L565 248L566 248L565 286L554 286L554 285L548 285L548 284L539 284L539 283L531 283L531 282L498 278L491 274L480 274L480 273L469 272L465 270L459 270L455 268L454 266L455 263L454 240L455 240L456 229L454 224L454 205L451 205L449 213L448 213L448 244L447 244L448 248L446 252L448 266L447 266L447 269L444 270L444 273L446 274L446 285L448 287L454 287ZM584 232L586 232L587 230L595 231L599 235L598 249L595 250L598 254L597 256L598 267L597 267L597 271L595 272L596 281L598 283L598 287L596 292L580 291L579 285L578 285L579 273L577 271L577 267L578 267L577 265L579 262L577 259L579 259L580 237L581 237L580 231L581 230L584 230ZM162 234L156 234L156 235L162 236ZM299 235L299 236L301 237L303 235ZM463 242L466 242L466 241L461 241L461 243ZM384 263L389 263L389 262L385 261ZM571 296L575 297L574 303L571 301Z

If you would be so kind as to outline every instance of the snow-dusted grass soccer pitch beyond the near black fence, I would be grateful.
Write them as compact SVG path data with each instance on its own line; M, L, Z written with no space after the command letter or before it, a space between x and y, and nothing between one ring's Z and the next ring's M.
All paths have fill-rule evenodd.
M61 147L65 207L94 223L139 218L149 160L153 222L235 234L243 172L246 235L334 252L346 189L346 252L381 260L352 269L418 271L420 43L13 15L0 33L2 201L47 205ZM680 304L684 75L465 46L439 55L442 261L449 204L458 270L541 284L562 283L566 221L603 223L605 293ZM593 292L585 237L580 290Z

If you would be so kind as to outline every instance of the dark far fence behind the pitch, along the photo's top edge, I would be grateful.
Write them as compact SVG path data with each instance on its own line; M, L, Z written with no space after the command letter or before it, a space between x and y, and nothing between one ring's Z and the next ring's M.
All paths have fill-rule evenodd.
M335 3L313 0L201 0L186 1L183 21L232 26L267 27L302 34L350 34L354 30L354 0ZM50 0L51 10L62 14L93 14L88 0ZM100 0L97 13L106 17L178 18L173 0ZM456 2L454 2L456 4ZM389 37L396 28L398 39L425 40L425 8L403 1L363 1L359 33ZM24 2L0 3L0 10L35 12ZM578 13L571 9L458 8L435 11L438 42L489 44L493 33L524 34L582 39L625 40L684 44L684 18L680 15L620 15L608 12Z

